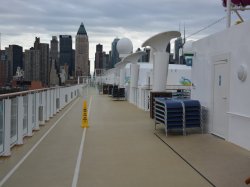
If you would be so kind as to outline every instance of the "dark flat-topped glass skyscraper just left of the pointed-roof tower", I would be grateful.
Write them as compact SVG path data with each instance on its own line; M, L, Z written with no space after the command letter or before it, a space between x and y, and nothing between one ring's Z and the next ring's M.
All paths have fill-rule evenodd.
M60 46L60 66L68 67L68 75L73 76L73 58L72 58L72 37L70 35L60 35L59 36L59 46Z

